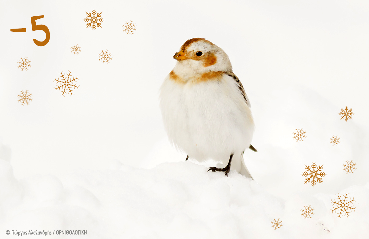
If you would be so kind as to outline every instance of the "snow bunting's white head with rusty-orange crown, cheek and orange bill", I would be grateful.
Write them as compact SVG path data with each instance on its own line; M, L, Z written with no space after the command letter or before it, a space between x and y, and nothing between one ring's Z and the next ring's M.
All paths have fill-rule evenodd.
M204 38L192 38L184 42L173 59L178 61L175 69L182 73L232 71L227 54L220 47Z

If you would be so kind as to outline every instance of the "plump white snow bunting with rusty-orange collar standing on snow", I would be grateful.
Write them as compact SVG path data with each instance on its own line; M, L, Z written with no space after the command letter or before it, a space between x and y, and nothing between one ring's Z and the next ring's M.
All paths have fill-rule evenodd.
M254 119L244 87L232 72L227 54L204 38L184 42L173 56L174 69L160 88L166 132L177 149L199 162L221 161L252 179L243 153L250 148ZM232 162L232 164L231 164Z

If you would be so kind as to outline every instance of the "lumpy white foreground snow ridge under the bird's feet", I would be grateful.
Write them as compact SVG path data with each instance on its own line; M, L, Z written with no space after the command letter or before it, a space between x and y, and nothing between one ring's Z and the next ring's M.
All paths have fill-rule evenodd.
M355 195L352 217L330 211L333 194L294 194L288 200L257 181L207 172L192 162L14 179L0 160L1 232L87 230L88 238L362 238L368 235L369 183ZM313 204L311 219L300 209ZM271 221L282 220L273 230ZM74 238L54 235L49 238ZM77 237L77 236L76 236ZM80 236L78 236L80 237Z

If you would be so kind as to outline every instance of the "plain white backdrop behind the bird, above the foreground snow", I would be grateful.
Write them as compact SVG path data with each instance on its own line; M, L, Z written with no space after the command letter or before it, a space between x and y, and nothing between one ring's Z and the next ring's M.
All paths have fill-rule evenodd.
M95 31L83 21L93 9L105 19ZM31 30L37 15L45 15L36 22L51 36L42 47L32 41L45 38ZM123 32L125 21L136 24L133 35ZM328 208L334 194L368 185L367 1L1 0L0 22L0 138L6 145L0 156L16 180L183 161L186 155L166 141L158 90L176 63L174 53L201 37L228 54L251 101L252 144L259 152L247 151L245 159L263 190L283 200L327 193ZM70 52L73 44L81 46L78 55ZM106 49L113 59L102 64L98 54ZM21 57L31 60L28 71L17 67ZM78 76L79 89L63 97L54 79L68 70ZM18 103L21 90L32 93L29 105ZM355 113L348 122L338 114L346 105ZM296 128L307 131L304 142L292 139ZM338 146L330 145L332 135L341 139ZM342 172L345 160L358 164L354 174ZM315 188L300 175L313 161L327 173ZM182 164L176 165L168 170ZM364 188L358 189L366 192L363 202Z

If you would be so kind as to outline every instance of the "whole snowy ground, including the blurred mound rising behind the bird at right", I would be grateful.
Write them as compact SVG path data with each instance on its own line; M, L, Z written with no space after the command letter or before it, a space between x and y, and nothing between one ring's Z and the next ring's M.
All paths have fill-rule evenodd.
M366 238L367 134L354 121L340 120L337 109L311 90L266 92L265 102L278 94L280 104L253 102L258 152L247 150L245 159L255 181L185 162L166 139L154 146L142 168L117 160L109 170L17 180L10 150L2 145L0 232L73 229L87 230L88 238ZM304 127L303 142L292 139L291 125ZM277 132L266 136L271 131ZM340 136L338 146L330 145L332 134ZM345 160L357 164L354 174L342 170ZM301 176L304 164L313 161L324 164L327 173L324 184L315 188ZM356 209L349 218L331 211L338 193L354 197ZM304 205L314 208L311 219L301 217ZM279 231L271 227L274 218L283 222Z

